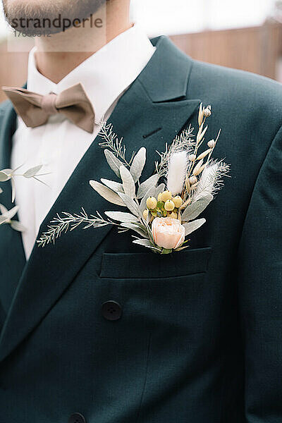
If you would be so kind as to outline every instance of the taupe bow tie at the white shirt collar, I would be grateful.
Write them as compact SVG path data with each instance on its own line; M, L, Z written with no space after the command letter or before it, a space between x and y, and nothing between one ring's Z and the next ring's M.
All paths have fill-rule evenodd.
M44 125L49 116L60 113L89 133L94 129L94 109L82 85L76 84L61 92L36 94L24 88L2 87L17 114L30 128Z

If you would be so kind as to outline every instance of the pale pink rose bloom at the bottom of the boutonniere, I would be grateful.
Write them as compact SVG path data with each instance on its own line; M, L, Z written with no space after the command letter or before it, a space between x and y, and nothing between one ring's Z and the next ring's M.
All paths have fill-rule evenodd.
M178 248L185 240L185 228L178 219L156 217L152 223L154 242L167 250Z

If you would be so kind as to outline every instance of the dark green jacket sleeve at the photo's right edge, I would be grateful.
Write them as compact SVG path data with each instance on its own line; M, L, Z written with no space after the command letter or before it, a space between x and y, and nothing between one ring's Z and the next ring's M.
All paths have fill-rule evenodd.
M248 423L281 423L282 127L252 192L239 245L238 269L245 347L245 418Z

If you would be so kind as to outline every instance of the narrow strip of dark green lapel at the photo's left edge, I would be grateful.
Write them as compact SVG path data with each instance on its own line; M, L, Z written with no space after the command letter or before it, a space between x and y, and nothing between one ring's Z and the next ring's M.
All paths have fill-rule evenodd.
M11 140L16 129L16 114L10 103L6 109L1 109L0 115L0 169L10 167ZM11 202L10 182L0 183L3 192L0 203L7 209L15 204ZM15 216L14 219L17 219ZM23 250L20 232L14 231L11 226L0 226L0 300L4 312L8 312L13 295L18 285L20 275L25 266L25 253Z

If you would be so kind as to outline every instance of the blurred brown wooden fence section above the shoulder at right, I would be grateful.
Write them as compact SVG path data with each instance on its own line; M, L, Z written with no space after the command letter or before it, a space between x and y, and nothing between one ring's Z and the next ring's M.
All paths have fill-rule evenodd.
M278 79L281 24L269 22L261 27L174 35L171 39L193 59Z

